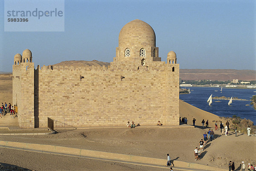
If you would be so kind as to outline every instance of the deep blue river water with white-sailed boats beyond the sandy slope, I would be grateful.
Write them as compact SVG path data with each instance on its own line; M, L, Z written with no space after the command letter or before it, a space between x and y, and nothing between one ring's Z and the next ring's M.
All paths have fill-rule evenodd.
M185 87L181 87L185 88ZM228 105L229 100L219 100L212 99L211 106L208 105L207 100L212 94L215 96L225 96L225 97L238 97L239 99L250 100L253 95L256 95L256 89L231 89L224 88L222 93L220 92L221 87L189 87L191 90L190 94L180 94L180 99L195 106L199 109L205 110L207 112L213 113L218 116L229 116L233 115L240 116L241 119L250 119L256 125L256 110L254 110L251 101L238 101L233 100L232 104ZM188 89L188 87L186 87ZM215 92L215 90L218 90ZM221 101L221 102L216 102ZM245 104L250 104L250 106L245 106Z

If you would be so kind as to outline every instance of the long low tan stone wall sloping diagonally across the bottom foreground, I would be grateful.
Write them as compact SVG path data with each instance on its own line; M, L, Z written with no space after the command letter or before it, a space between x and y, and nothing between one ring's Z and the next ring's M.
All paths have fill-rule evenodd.
M58 154L69 157L81 157L87 159L97 159L111 162L121 162L134 165L143 165L157 168L166 168L166 159L157 159L150 157L133 156L127 154L116 154L103 151L93 151L79 148L61 147L55 145L30 144L22 142L0 141L0 147L12 148L24 151L34 151L39 153ZM197 163L182 162L174 160L175 171L226 171L221 168L215 168Z

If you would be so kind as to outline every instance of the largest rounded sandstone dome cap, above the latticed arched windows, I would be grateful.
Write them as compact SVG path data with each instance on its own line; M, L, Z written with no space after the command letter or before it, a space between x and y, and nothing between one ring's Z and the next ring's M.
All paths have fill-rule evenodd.
M156 35L148 23L132 20L125 24L119 33L119 47L156 46Z

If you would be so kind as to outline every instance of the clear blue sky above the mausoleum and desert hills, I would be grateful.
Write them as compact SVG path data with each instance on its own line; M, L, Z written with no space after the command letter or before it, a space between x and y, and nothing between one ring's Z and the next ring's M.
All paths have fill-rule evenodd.
M162 61L175 51L181 69L256 70L255 0L65 0L64 32L4 32L0 0L0 71L32 51L37 65L113 61L122 27L151 25Z

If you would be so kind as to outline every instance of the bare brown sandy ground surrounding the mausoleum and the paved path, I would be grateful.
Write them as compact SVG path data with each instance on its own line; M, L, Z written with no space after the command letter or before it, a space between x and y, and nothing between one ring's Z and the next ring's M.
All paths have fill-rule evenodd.
M0 75L0 102L12 102L12 78L10 75ZM166 128L154 126L152 128L137 127L108 128L108 129L77 129L64 133L42 135L42 136L0 136L0 140L14 142L28 142L38 144L59 145L74 148L84 148L89 150L107 151L120 154L132 154L137 156L154 157L166 159L169 153L171 159L186 162L197 162L203 165L227 168L230 160L235 162L236 170L240 170L241 161L256 164L256 136L234 134L221 136L219 130L215 131L215 139L208 142L201 153L201 161L195 161L194 149L199 147L199 141L203 138L203 133L208 129L201 128L201 120L209 120L209 126L213 127L215 120L221 119L206 111L200 110L192 105L180 101L180 116L187 117L188 124L192 125L192 119L197 119L196 128ZM225 122L225 120L223 120ZM214 130L214 128L213 128ZM85 136L84 136L85 135ZM0 148L0 162L17 165L29 169L49 170L45 166L47 162L54 161L53 170L69 170L68 166L73 163L81 163L80 166L87 170L152 170L140 166L125 164L115 164L111 162L97 162L88 159L76 159L72 157L57 157L50 154L36 154L33 152L15 152L15 150ZM16 150L17 151L17 150ZM15 154L17 153L17 156ZM11 158L8 157L12 156ZM6 157L4 157L6 155ZM50 155L50 156L49 156ZM48 159L48 158L52 158ZM70 159L72 158L72 159ZM30 162L29 159L32 159ZM29 162L24 162L29 160ZM63 162L62 162L63 161ZM100 163L98 165L98 163ZM39 167L38 167L39 165ZM41 165L41 166L40 166ZM103 169L102 169L103 167ZM104 169L104 167L106 167ZM72 170L72 169L71 169ZM78 168L74 170L79 170ZM153 169L155 170L155 169Z

